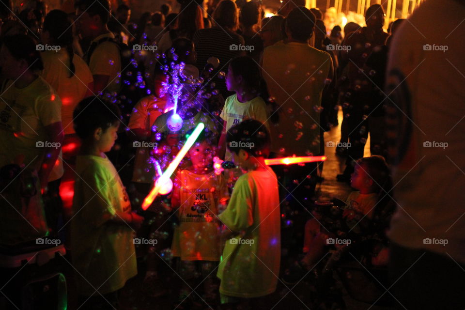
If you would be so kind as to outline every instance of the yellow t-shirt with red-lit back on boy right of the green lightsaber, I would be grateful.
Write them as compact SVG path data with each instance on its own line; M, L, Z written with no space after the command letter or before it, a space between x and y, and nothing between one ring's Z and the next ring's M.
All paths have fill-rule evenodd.
M281 251L276 174L266 167L239 177L219 218L228 229L242 232L226 241L217 273L220 293L243 298L273 293Z

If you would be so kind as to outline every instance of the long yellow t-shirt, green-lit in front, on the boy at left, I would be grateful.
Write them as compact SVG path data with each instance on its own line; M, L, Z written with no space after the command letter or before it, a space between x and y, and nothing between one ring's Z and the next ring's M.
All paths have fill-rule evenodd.
M131 212L126 190L107 157L78 156L76 160L71 246L80 294L119 290L137 275L134 231L109 222L116 212ZM89 283L95 288L93 289Z

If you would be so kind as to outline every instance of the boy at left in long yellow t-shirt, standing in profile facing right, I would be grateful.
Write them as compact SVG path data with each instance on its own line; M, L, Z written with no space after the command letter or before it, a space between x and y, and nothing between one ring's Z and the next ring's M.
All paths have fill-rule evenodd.
M76 159L71 248L84 309L103 309L108 301L118 309L118 290L137 275L133 233L143 217L131 212L118 172L105 155L117 138L119 116L115 105L97 97L82 100L73 114L82 145Z

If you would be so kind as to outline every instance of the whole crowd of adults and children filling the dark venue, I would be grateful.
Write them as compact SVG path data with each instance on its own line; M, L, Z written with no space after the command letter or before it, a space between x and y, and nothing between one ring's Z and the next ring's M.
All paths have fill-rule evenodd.
M454 39L465 31L463 1L429 0L388 32L380 4L366 10L364 27L326 29L324 13L302 0L281 1L271 17L261 1L209 1L207 10L178 1L178 13L163 4L134 22L129 6L109 0L51 11L39 0L21 8L1 0L0 243L62 240L82 309L119 309L118 292L138 272L144 294L165 296L161 274L172 268L182 279L174 307L261 309L279 281L295 285L354 243L364 245L366 268L391 264L394 283L426 253L399 282L399 308L463 309L456 221L464 208L437 208L450 204L446 196L463 197L454 169L463 166L463 125L453 115L463 114L465 96L441 69L465 69ZM442 31L432 29L426 19L441 14ZM433 41L415 31L449 46L447 62L434 51L424 56L420 45ZM324 133L340 109L341 140L326 155L345 160L334 177L354 191L321 202L322 162L270 168L265 159L325 155ZM453 120L456 127L441 127ZM142 210L199 124L172 190ZM444 172L447 159L419 149L423 130L449 141L455 167ZM399 202L393 165L394 180L408 181L394 191ZM430 237L449 245L425 244ZM428 262L453 273L445 284L435 271L434 292L419 267ZM417 279L429 299L411 285Z

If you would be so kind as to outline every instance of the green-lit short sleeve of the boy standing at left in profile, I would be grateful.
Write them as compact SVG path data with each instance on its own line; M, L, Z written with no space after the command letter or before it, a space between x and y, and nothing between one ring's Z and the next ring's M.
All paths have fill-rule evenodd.
M96 167L90 167L80 174L82 201L77 212L89 224L98 227L108 221L115 214L111 206L109 180L105 172Z

